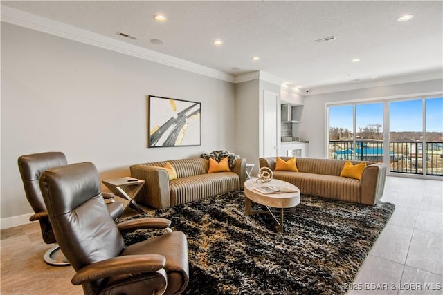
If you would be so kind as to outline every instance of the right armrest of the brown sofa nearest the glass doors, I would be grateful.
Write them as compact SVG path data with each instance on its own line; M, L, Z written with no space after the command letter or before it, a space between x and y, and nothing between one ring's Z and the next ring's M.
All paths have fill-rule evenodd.
M361 203L374 205L383 196L386 181L386 164L371 164L361 174Z

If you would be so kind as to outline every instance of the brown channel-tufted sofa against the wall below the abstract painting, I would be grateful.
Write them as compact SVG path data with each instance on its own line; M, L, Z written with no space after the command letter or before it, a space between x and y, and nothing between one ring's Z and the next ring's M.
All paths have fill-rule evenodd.
M177 179L169 180L168 173L159 166L170 162L177 171ZM130 166L131 176L145 180L136 201L154 208L171 207L209 196L216 196L243 188L246 159L235 160L230 172L207 173L209 160L188 158L151 162Z

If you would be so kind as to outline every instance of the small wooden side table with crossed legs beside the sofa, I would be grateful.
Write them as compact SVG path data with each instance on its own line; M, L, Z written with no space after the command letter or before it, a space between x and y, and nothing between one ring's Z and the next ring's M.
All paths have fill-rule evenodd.
M141 190L143 184L145 184L145 180L139 180L132 177L124 177L102 180L102 182L117 196L128 200L125 208L123 208L123 211L125 211L127 207L129 207L129 205L132 205L132 207L134 207L134 209L136 209L137 211L145 213L145 211L143 211L143 209L141 209L141 207L138 206L138 204L134 201L137 193Z

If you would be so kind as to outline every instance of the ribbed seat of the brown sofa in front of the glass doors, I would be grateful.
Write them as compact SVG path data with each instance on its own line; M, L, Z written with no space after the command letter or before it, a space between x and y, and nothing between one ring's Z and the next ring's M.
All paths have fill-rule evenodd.
M295 185L306 195L361 202L361 182L354 178L289 171L274 171L274 178Z

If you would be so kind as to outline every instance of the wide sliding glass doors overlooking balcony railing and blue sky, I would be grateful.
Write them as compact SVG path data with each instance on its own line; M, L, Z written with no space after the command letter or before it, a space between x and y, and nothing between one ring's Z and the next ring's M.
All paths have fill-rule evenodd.
M393 173L443 176L442 97L329 105L327 111L329 158L389 161Z

